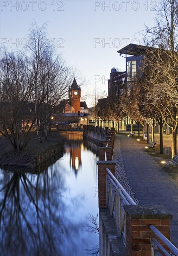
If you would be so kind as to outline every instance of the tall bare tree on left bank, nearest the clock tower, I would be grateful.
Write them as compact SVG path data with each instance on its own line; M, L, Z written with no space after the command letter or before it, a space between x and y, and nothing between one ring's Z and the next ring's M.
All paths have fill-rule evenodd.
M32 100L35 102L35 112L38 113L35 128L38 140L42 142L38 122L47 138L47 122L52 108L67 94L74 76L62 57L55 56L54 47L47 38L46 23L42 27L32 24L26 50L33 73Z

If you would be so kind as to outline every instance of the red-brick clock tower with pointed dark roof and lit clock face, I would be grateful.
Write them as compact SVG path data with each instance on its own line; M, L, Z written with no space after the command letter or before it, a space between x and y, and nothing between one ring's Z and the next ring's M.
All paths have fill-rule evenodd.
M81 88L77 85L76 79L69 89L69 100L71 107L74 108L74 113L80 112L80 97L81 97Z

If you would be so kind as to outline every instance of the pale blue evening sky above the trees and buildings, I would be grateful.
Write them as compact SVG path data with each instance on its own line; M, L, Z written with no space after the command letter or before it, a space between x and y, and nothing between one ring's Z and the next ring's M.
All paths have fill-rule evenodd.
M154 25L157 0L1 0L1 46L23 47L32 22L38 27L48 22L48 34L57 53L76 67L89 81L83 94L108 91L112 67L125 70L125 60L117 51L129 43L142 44L137 34L144 24ZM90 97L87 104L91 106Z

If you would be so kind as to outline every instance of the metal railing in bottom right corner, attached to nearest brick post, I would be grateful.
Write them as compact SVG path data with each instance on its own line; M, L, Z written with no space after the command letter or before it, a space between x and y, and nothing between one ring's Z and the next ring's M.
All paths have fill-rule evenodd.
M149 228L153 233L159 237L159 239L170 249L171 253L175 256L178 256L178 249L163 235L161 232L155 228L154 225L150 224ZM151 256L162 256L158 248L165 254L165 256L171 256L172 254L168 253L166 249L155 239L151 239L152 253Z

